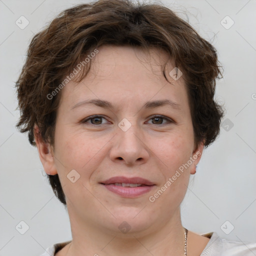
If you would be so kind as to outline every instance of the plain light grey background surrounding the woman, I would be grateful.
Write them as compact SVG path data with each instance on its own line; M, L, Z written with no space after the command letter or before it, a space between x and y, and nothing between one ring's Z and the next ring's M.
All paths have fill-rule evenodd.
M19 112L14 82L33 34L61 10L82 2L0 0L1 256L40 255L51 244L71 239L68 215L46 181L37 149L15 129ZM221 127L202 155L182 203L183 225L198 233L216 231L229 240L255 242L256 1L162 2L185 19L184 11L190 12L189 23L217 48L224 78L217 82L216 99L225 104L224 119L233 123L229 130ZM15 24L21 15L29 21L24 29ZM229 29L223 27L232 22L227 15L234 21ZM23 235L15 228L21 220L29 226ZM234 229L225 234L231 225Z

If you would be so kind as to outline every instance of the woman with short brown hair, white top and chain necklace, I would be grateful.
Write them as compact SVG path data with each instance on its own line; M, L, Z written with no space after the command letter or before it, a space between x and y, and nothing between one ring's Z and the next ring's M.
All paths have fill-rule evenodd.
M180 220L189 176L219 133L220 75L215 48L157 4L77 5L33 37L17 127L37 146L72 232L43 255L256 253Z

